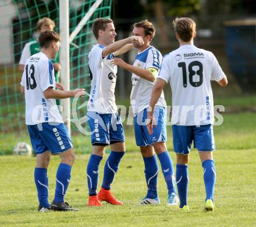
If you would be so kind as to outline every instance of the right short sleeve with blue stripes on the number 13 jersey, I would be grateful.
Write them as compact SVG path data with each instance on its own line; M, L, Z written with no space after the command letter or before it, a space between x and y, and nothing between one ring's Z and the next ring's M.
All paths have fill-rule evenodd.
M40 86L42 92L44 92L49 87L54 87L54 67L51 60L42 60L40 66Z

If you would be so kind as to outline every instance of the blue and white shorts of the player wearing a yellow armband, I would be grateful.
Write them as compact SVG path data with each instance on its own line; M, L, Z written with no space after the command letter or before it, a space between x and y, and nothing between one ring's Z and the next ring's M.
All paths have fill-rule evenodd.
M153 125L153 134L148 134L147 108L138 113L134 118L134 132L137 146L152 146L153 143L166 142L166 108L155 106L154 118L157 127Z

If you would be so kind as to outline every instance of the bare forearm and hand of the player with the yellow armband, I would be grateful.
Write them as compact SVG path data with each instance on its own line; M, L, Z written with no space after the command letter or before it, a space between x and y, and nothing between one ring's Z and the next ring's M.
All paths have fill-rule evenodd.
M151 72L151 70L147 70L147 69L140 69L136 66L132 66L131 64L127 64L126 62L124 62L122 59L115 57L114 59L111 60L111 64L113 64L114 66L120 66L125 70L130 71L131 73L136 74L138 77L141 77L145 80L148 80L150 82L154 82L155 81L155 76L154 74ZM157 69L154 69L157 70ZM158 71L158 70L157 70Z

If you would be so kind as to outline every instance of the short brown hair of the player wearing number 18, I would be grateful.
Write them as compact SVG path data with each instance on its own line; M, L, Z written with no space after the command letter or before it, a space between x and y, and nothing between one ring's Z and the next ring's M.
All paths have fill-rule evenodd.
M184 42L189 42L195 34L195 21L189 17L181 17L173 20L173 28L175 33L179 34L179 37Z

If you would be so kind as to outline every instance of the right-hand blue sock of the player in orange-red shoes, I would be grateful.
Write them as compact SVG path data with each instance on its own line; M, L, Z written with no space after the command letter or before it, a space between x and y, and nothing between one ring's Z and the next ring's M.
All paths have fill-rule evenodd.
M124 154L125 152L113 152L113 151L111 151L111 153L109 154L104 167L102 188L108 189L108 190L110 189L110 185L113 182L113 179L115 178L116 172L118 172L119 163Z

